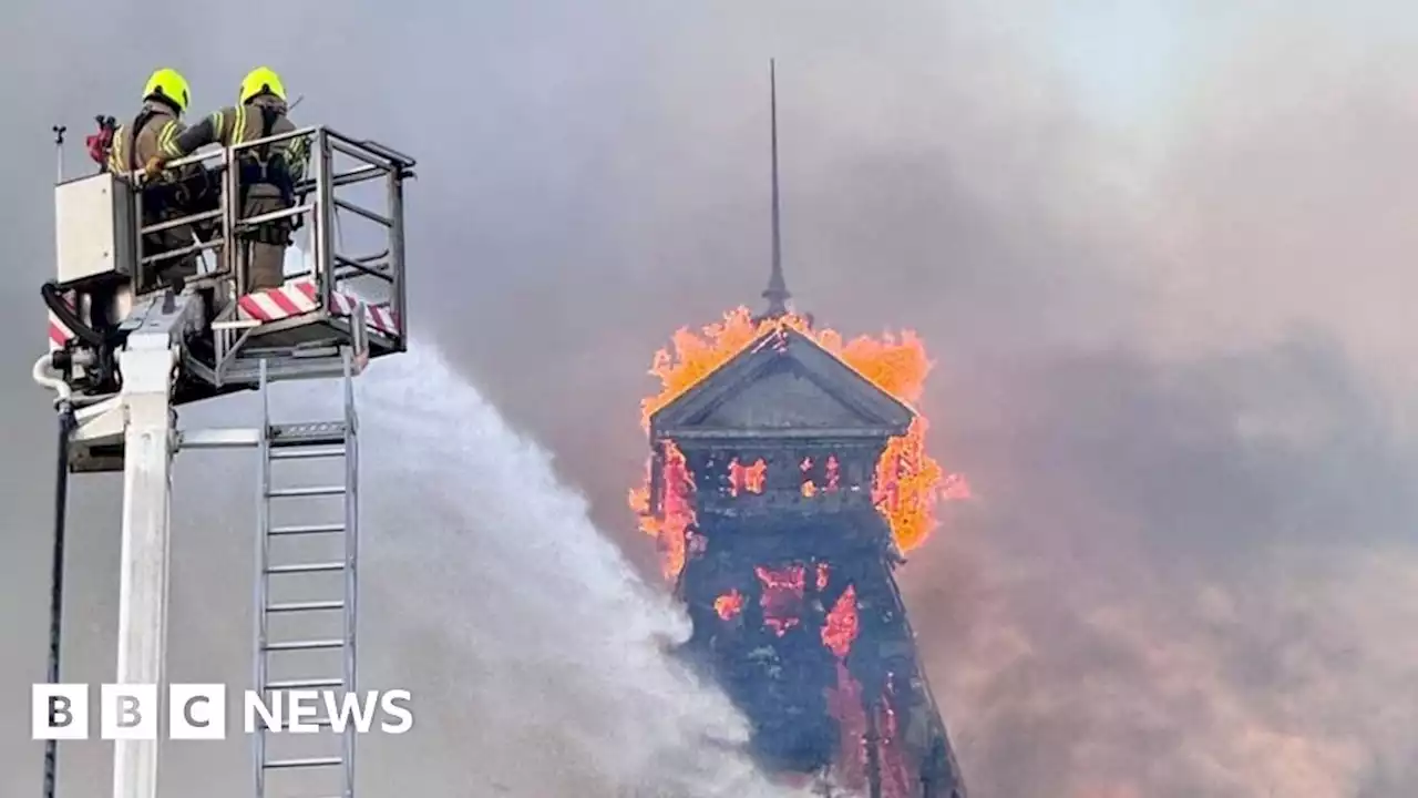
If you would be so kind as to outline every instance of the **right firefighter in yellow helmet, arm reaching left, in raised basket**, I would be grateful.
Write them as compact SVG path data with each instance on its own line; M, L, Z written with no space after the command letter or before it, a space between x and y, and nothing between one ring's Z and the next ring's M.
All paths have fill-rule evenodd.
M252 70L241 81L235 106L223 108L179 135L172 148L153 153L145 165L156 175L163 163L196 152L208 143L235 146L242 142L291 132L285 87L268 67ZM238 219L252 219L295 206L295 185L305 176L309 145L285 139L238 151ZM265 222L237 234L241 263L247 267L244 291L275 288L285 281L285 248L291 243L294 219Z

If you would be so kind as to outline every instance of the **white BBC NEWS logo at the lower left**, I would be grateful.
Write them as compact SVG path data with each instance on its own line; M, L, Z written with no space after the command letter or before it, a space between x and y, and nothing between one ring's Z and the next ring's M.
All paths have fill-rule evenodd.
M157 684L102 684L98 711L91 711L88 684L34 684L30 726L34 740L88 740L89 717L98 716L102 740L157 740L162 706ZM347 728L369 734L403 734L414 727L408 690L257 690L241 692L241 724L247 734L312 734ZM377 723L376 723L377 721ZM225 740L225 684L170 684L169 740Z

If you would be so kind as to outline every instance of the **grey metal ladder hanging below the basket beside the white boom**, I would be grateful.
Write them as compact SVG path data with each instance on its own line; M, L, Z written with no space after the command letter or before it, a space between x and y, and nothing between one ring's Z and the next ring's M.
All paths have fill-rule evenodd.
M347 349L343 383L343 420L272 423L261 361L255 689L268 697L272 690L337 690L342 697L354 692L359 447ZM343 479L291 484L288 469L322 461L343 466ZM294 517L295 510L306 513ZM322 551L312 554L315 548ZM320 733L272 734L257 717L255 798L353 798L354 724L335 730L325 709L309 723ZM282 751L295 743L302 744L299 755Z

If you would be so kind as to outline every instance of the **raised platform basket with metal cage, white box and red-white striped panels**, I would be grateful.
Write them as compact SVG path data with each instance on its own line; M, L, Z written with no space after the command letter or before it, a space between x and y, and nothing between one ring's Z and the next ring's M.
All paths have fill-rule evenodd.
M305 148L309 166L292 207L245 216L231 166L267 145ZM255 388L262 361L267 379L281 381L339 376L346 348L356 373L406 351L403 192L413 168L394 149L318 126L174 160L166 180L139 189L108 172L60 183L58 274L45 287L55 366L78 396L116 393L115 351L180 297L200 298L187 302L200 310L183 322L177 405ZM183 213L145 213L153 192L184 197ZM248 285L244 241L275 224L294 227L288 253L305 257L294 270L286 258L279 287L238 290ZM199 258L197 274L164 284L164 267L182 258Z

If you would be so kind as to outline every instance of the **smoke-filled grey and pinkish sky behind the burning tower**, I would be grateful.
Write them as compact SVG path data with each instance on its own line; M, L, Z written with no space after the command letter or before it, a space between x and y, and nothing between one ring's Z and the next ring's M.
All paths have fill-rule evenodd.
M214 35L252 11L279 24ZM798 307L847 334L920 332L932 447L976 488L900 571L973 794L1411 791L1409 4L11 14L0 51L34 77L0 85L24 111L0 122L16 328L0 366L24 373L43 346L48 126L128 114L159 65L187 74L196 106L225 104L267 62L305 95L302 121L420 158L414 324L645 572L624 501L644 372L675 328L757 301L777 58ZM27 542L4 565L18 598L0 673L37 677L48 467L20 453L48 461L50 422L24 379L7 385L0 490ZM96 487L79 514L112 500ZM0 741L27 761L18 734Z

